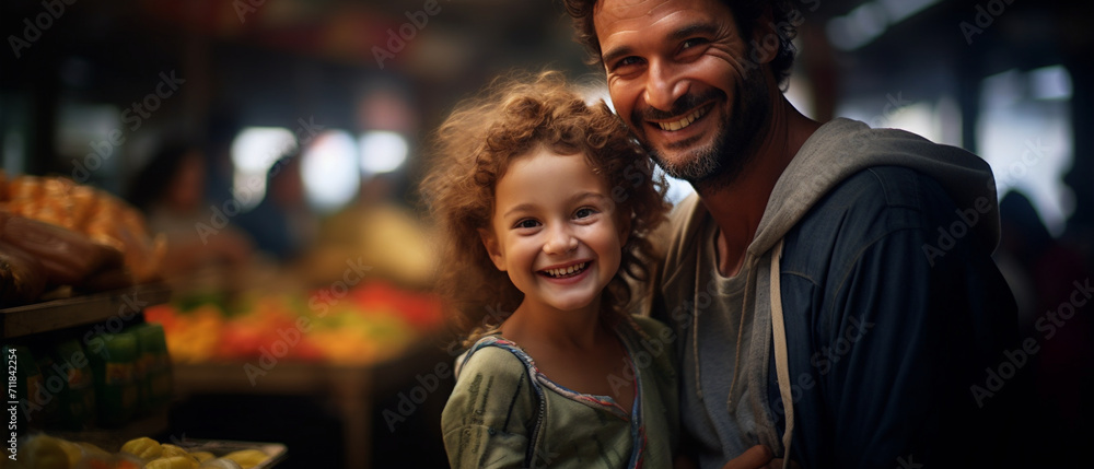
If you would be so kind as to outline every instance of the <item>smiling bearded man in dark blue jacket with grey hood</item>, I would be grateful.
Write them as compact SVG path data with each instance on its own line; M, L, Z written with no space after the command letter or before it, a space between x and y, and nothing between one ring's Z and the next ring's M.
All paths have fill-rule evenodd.
M696 189L652 312L680 338L680 462L1014 462L1024 378L976 391L1021 349L987 163L795 109L782 91L806 2L563 3L619 117Z

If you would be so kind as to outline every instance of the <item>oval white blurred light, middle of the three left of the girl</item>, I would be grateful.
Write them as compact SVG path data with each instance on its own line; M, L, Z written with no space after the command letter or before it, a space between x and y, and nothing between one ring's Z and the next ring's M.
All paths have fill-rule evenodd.
M345 130L328 130L301 154L300 172L304 194L315 209L324 212L340 209L361 186L357 145Z

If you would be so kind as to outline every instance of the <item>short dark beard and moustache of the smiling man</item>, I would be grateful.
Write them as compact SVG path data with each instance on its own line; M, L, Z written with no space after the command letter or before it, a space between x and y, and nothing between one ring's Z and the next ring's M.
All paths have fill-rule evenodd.
M752 161L755 143L763 138L759 134L763 124L768 118L770 106L767 103L767 90L761 78L742 80L737 90L737 99L733 103L732 114L726 120L718 122L713 141L707 146L695 148L683 153L676 161L670 161L652 145L648 144L644 131L639 134L639 141L650 157L657 163L665 174L677 179L691 183L697 189L721 188L732 184ZM724 103L725 93L712 90L702 95L680 96L670 112L649 109L642 116L637 110L631 115L631 121L642 122L644 119L664 119L680 116L706 102ZM713 110L705 117L711 117ZM685 140L671 144L667 150L688 148L694 140Z

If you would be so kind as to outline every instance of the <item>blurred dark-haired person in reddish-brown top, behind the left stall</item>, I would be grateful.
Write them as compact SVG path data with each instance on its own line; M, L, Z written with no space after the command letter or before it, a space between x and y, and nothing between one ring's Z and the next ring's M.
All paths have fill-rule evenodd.
M206 200L206 164L200 146L164 141L130 180L126 196L144 213L150 232L166 235L164 277L184 291L231 288L254 250L249 237L212 209L228 201Z

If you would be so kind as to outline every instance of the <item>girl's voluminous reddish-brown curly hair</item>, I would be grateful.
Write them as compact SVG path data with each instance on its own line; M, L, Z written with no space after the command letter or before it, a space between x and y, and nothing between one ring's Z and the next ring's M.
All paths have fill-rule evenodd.
M523 293L487 254L479 228L490 228L494 186L509 163L539 146L585 155L608 183L616 213L629 216L619 271L605 289L608 319L630 306L630 281L647 281L653 246L647 235L671 209L665 181L626 125L603 101L587 105L562 73L511 72L477 98L462 102L433 136L423 199L441 233L438 289L454 309L457 332L469 345L498 327L520 305Z

